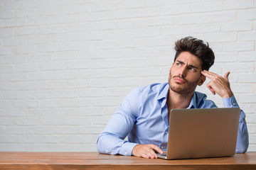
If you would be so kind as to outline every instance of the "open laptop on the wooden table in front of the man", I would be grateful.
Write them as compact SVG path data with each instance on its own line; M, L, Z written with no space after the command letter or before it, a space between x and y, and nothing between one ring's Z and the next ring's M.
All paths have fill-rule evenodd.
M232 157L238 136L240 108L173 109L162 159Z

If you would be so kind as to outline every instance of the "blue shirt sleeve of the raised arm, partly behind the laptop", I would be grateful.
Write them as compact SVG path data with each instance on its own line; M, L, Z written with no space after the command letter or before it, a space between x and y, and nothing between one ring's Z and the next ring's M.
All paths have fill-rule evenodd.
M235 100L235 96L232 96L230 98L223 98L223 104L225 108L239 108L238 102ZM245 112L241 110L238 125L238 140L235 153L245 153L247 151L248 146L249 135L245 121Z

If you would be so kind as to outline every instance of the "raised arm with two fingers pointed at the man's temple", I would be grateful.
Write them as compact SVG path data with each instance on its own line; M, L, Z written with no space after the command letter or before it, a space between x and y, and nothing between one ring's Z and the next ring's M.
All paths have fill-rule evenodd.
M223 103L225 108L238 108L238 102L235 100L235 96L230 89L230 83L228 81L227 72L224 77L220 77L218 74L213 72L208 72L206 70L202 71L203 76L208 77L211 81L207 84L208 89L213 93L213 95L218 94L223 98ZM240 111L240 120L238 125L238 140L235 152L245 153L249 145L249 137L247 132L247 125L245 121L245 113Z

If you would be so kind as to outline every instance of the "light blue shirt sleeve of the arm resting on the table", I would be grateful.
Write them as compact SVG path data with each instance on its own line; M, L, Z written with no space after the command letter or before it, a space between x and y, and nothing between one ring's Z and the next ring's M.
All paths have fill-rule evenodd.
M136 143L124 140L134 126L138 114L139 88L131 91L112 115L97 139L97 150L102 154L132 155Z

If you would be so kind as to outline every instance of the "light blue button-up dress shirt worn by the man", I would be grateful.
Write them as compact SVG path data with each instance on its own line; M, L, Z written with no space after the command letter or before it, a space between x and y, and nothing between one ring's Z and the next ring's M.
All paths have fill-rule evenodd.
M166 98L169 84L151 84L132 90L112 115L97 140L103 154L132 155L138 144L154 144L166 151L169 123ZM206 94L193 94L188 108L217 108L206 100ZM225 108L239 107L235 96L223 98ZM124 140L128 135L128 141ZM245 113L241 110L236 153L244 153L249 145Z

